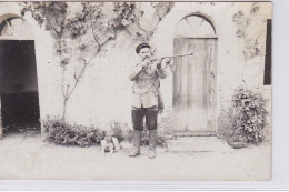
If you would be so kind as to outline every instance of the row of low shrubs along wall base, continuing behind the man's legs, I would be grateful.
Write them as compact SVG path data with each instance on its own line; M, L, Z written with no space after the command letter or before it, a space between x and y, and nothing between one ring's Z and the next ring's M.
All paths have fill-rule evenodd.
M106 130L97 127L71 125L61 118L48 118L43 121L47 140L62 145L80 145L82 148L100 144L107 131L111 131L119 142L132 142L133 130L127 123L111 121ZM141 138L142 144L149 144L149 131L144 130ZM166 146L167 137L161 129L158 130L158 145Z

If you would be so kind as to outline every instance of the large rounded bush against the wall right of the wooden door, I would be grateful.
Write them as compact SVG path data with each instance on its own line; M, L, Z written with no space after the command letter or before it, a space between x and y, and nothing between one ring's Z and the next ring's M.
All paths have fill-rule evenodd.
M235 90L231 107L219 118L221 137L229 143L258 144L266 138L267 100L260 93L239 87Z

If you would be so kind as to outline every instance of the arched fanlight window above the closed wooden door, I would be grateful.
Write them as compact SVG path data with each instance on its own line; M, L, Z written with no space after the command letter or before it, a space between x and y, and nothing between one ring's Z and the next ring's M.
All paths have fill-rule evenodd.
M177 26L177 38L213 38L217 37L212 22L202 14L185 17Z

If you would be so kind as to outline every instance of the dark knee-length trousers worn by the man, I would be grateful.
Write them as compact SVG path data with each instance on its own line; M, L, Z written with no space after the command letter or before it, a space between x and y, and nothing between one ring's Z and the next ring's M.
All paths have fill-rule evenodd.
M158 124L158 107L150 108L132 108L132 127L133 130L143 130L143 119L146 118L146 127L148 130L157 130Z

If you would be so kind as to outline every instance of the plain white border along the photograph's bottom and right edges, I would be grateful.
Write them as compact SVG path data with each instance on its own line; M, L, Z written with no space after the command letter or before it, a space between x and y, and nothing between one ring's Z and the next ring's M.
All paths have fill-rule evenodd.
M273 0L272 180L266 182L0 181L0 190L203 191L289 190L289 1ZM1 174L1 173L0 173Z

